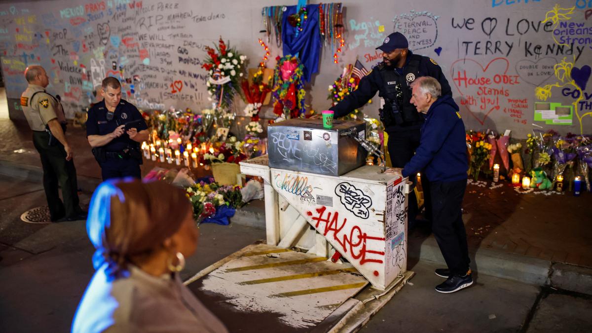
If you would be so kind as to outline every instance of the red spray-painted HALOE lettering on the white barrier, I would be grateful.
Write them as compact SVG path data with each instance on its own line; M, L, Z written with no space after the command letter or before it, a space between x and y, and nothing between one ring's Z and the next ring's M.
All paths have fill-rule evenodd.
M313 216L312 212L307 212L308 216L313 216L312 219L317 222L315 225L315 228L317 228L317 230L321 231L319 226L321 222L323 222L323 235L327 236L329 232L333 232L333 239L335 239L335 241L337 241L337 243L341 246L343 252L348 253L349 249L349 252L352 254L352 257L356 260L359 260L361 265L365 264L366 262L377 262L378 264L382 264L382 262L384 262L382 259L366 258L366 255L371 254L380 255L384 258L383 251L374 251L366 248L367 241L384 241L384 238L368 236L365 232L362 232L362 229L360 229L359 226L353 226L350 229L349 236L343 233L340 234L342 229L346 226L346 222L348 221L348 219L343 219L343 222L340 223L338 212L327 212L327 216L324 217L324 213L326 212L326 210L327 207L324 206L317 208L317 216ZM348 229L349 228L346 228L346 230Z

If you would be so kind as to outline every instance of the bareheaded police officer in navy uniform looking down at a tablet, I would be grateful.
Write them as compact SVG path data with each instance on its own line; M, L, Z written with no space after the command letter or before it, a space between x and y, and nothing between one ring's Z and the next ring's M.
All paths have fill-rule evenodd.
M141 178L140 142L148 139L146 122L133 104L121 99L118 79L105 78L101 95L103 100L88 110L86 137L101 165L102 178ZM134 127L126 130L133 121L137 121Z

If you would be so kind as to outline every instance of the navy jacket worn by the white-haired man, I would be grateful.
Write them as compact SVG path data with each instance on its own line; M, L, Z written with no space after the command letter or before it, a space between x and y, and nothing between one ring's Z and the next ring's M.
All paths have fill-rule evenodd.
M422 126L422 138L415 155L403 168L403 177L423 170L429 181L451 182L466 179L465 124L458 105L449 95L438 98Z

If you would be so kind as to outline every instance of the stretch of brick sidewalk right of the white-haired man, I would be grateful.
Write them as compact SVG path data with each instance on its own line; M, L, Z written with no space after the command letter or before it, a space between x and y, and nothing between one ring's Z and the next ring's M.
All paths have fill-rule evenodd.
M590 193L524 194L502 184L467 186L463 208L469 246L592 267Z

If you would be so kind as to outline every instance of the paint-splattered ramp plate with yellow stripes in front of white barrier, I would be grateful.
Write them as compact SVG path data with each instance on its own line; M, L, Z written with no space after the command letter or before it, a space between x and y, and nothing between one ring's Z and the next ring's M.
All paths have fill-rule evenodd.
M401 277L398 289L412 274ZM342 331L352 325L349 318L361 325L379 309L366 314L371 308L356 296L385 294L350 264L266 244L246 246L186 284L231 332Z

